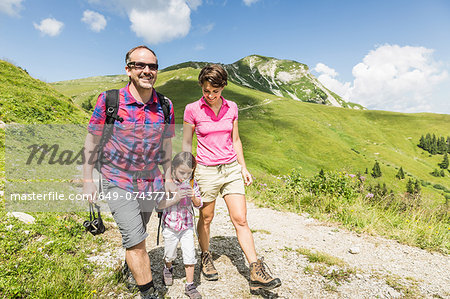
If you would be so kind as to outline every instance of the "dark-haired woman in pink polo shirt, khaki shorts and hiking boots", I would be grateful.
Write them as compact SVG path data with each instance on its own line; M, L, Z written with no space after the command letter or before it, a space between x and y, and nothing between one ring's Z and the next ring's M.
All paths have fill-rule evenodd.
M215 200L219 194L225 200L241 249L250 265L250 290L270 290L281 285L266 270L263 258L257 259L253 236L247 223L245 185L252 176L244 161L238 131L237 105L224 99L227 72L220 65L208 65L200 71L198 82L203 97L188 104L184 111L183 151L192 151L192 137L197 135L197 170L203 207L200 209L198 236L202 250L202 273L207 280L217 280L209 251L210 224L214 217Z

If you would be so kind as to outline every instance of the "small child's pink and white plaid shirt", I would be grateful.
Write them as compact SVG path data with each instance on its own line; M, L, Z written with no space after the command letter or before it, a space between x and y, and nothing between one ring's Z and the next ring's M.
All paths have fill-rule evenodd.
M175 182L180 187L182 183ZM196 198L200 199L201 208L203 201L200 197L200 188L197 181L194 180L194 194ZM164 227L169 227L174 231L182 231L191 227L194 227L194 209L192 208L192 200L189 197L181 199L176 205L172 205L163 211L163 223Z

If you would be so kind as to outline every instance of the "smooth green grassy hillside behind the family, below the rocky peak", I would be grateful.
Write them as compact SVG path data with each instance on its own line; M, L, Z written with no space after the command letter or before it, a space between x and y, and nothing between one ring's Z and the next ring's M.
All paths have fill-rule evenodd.
M172 99L176 122L182 123L184 107L197 100L201 90L197 83L199 70L175 69L158 75L157 89ZM102 89L125 85L122 76L59 82L54 85L67 95L93 104L99 86ZM98 82L98 83L97 83ZM91 88L91 91L88 89ZM386 111L361 111L277 97L234 83L223 95L237 102L240 109L240 134L248 164L254 171L284 174L301 167L306 175L324 170L345 169L349 172L371 171L375 160L381 165L380 182L393 181L403 189L405 182L393 180L403 167L411 177L450 188L445 178L431 176L442 155L429 154L416 145L428 132L447 136L450 115L405 114Z

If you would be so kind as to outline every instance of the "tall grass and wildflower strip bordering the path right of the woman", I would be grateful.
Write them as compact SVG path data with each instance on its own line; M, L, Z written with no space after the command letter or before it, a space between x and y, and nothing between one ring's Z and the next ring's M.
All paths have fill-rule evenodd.
M394 192L385 198L368 198L368 187L377 179L361 182L344 173L307 177L298 171L276 178L260 176L247 189L256 203L278 210L308 212L313 217L340 223L369 234L378 234L420 248L450 252L448 203L429 193L412 198ZM389 187L389 185L387 186Z

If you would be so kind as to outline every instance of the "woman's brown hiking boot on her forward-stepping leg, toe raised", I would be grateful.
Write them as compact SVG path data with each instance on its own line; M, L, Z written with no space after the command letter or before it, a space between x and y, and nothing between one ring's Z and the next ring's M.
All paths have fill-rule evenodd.
M250 264L250 292L258 293L260 290L271 290L281 285L279 278L273 278L264 258Z

